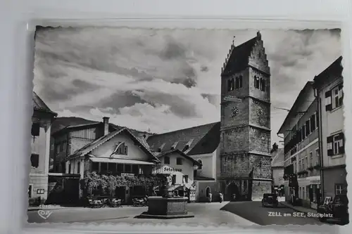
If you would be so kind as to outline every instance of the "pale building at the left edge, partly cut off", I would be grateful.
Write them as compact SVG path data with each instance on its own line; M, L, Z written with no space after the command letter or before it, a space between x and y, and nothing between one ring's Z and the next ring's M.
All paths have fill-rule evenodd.
M49 151L51 122L56 117L43 102L37 93L33 92L32 98L32 140L30 156L30 183L28 197L30 199L40 197L46 200L48 196L48 174L49 174Z

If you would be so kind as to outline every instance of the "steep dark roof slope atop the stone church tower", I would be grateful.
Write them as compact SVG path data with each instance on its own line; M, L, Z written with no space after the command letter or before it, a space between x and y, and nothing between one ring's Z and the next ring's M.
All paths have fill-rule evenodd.
M249 56L251 56L253 46L260 39L261 35L258 31L257 36L253 37L249 41L246 41L239 46L234 46L234 44L232 44L222 67L221 75L244 70L244 68L249 64Z

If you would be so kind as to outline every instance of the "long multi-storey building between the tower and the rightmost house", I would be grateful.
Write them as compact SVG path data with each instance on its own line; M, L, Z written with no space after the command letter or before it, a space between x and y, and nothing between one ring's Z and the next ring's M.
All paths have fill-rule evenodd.
M304 207L316 209L321 199L318 100L313 82L298 94L278 134L284 135L284 185L286 199L302 200ZM289 185L289 176L298 184Z

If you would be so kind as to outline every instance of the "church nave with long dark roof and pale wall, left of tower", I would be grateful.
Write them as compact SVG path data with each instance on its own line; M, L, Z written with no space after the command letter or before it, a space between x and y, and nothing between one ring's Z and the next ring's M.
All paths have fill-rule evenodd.
M199 167L193 170L196 201L208 201L209 193L213 194L213 200L218 200L220 122L156 134L146 141L156 154L176 149L199 162Z

